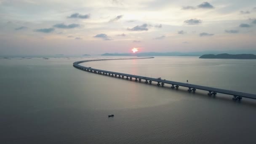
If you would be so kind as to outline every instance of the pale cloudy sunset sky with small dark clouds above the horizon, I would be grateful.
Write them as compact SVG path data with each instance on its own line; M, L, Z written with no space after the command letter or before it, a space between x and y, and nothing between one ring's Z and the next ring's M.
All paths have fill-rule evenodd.
M256 50L256 0L0 0L0 54Z

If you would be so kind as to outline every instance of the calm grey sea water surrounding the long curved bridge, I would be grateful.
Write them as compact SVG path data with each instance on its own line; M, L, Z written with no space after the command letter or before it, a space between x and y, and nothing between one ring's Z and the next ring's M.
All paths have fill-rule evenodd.
M85 59L93 58L0 59L0 143L256 143L256 100L72 67ZM256 60L170 56L82 65L256 93Z

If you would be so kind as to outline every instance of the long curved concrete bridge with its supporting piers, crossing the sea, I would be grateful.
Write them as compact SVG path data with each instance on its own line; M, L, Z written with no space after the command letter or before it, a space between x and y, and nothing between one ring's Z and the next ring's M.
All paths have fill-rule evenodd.
M152 59L154 57L139 57L139 58L129 58L129 59ZM145 83L149 83L151 84L152 82L157 82L157 85L164 85L164 84L170 84L171 88L179 88L179 86L183 86L183 87L187 87L188 91L191 92L195 92L196 89L199 90L204 90L204 91L208 91L208 95L216 95L217 93L223 93L223 94L227 94L227 95L232 95L233 96L233 100L240 100L243 97L244 98L248 98L248 99L256 99L256 94L252 94L252 93L242 93L242 92L238 92L238 91L230 91L230 90L225 90L225 89L220 89L220 88L211 88L211 87L206 87L206 86L202 86L202 85L193 85L193 84L188 84L188 83L180 83L180 82L175 82L175 81L171 81L171 80L161 80L161 79L157 79L157 78L151 78L151 77L144 77L144 76L139 76L139 75L130 75L130 74L125 74L125 73L120 73L120 72L111 72L111 71L106 71L106 70L102 70L102 69L93 69L91 67L83 67L81 65L79 65L80 63L83 62L90 62L90 61L109 61L109 60L128 60L128 59L92 59L92 60L85 60L85 61L76 61L73 63L73 66L77 69L81 69L87 72L94 72L94 73L98 73L101 75L111 75L112 77L119 77L119 78L124 78L126 77L126 79L130 79L132 80L133 78L135 78L135 81L137 82L139 80L139 82L141 82L141 80L145 80Z

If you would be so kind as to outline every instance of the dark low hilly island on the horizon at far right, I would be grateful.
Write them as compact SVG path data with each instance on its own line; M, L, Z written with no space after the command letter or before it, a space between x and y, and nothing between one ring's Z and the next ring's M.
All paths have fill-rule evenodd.
M200 59L256 59L256 55L254 54L205 54L199 57Z

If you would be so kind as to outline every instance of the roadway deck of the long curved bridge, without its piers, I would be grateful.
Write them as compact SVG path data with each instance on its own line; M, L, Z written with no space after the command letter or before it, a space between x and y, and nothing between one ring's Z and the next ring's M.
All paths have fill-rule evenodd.
M147 57L147 58L131 58L131 59L152 59L154 57ZM256 94L251 94L251 93L243 93L243 92L238 92L238 91L230 91L230 90L225 90L225 89L220 89L220 88L212 88L212 87L206 87L202 85L194 85L194 84L188 84L188 83L180 83L180 82L175 82L171 80L159 80L157 78L152 78L152 77L144 77L144 76L139 76L139 75L130 75L130 74L125 74L125 73L120 73L120 72L111 72L111 71L106 71L102 69L93 69L90 67L83 67L79 65L80 63L83 62L89 62L89 61L107 61L107 60L127 60L127 59L93 59L93 60L86 60L86 61L76 61L73 63L73 66L82 69L82 70L91 70L91 71L96 71L96 72L104 72L107 74L112 74L112 75L120 75L120 76L125 76L125 77L134 77L137 79L141 80L151 80L159 83L167 83L171 85L179 85L187 88L195 88L195 89L200 89L204 91L211 91L211 92L216 92L216 93L223 93L227 95L232 95L232 96L241 96L244 98L249 98L249 99L256 99Z

